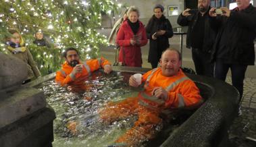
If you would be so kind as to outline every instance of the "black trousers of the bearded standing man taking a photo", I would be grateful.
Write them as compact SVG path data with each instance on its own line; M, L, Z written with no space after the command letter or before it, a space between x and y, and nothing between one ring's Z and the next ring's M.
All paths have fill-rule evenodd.
M197 75L213 76L214 63L211 63L210 53L204 53L200 49L192 48L192 59L195 64Z

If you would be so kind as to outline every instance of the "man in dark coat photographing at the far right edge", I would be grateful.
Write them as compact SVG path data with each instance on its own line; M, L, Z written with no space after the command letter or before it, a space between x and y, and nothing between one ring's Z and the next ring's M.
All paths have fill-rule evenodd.
M215 78L225 81L231 69L232 85L242 98L247 65L255 61L256 8L250 0L236 0L236 4L231 11L227 7L209 11L211 27L219 29L211 59L215 61Z

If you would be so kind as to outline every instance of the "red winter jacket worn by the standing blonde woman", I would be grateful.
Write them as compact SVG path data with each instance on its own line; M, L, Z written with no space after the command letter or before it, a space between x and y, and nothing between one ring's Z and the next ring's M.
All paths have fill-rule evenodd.
M134 33L127 20L123 22L116 38L116 43L121 47L119 61L124 62L127 66L141 67L143 64L140 47L147 45L147 34L143 23L139 20L138 22L140 28L136 35L141 36L140 45L130 45L130 39L133 38Z

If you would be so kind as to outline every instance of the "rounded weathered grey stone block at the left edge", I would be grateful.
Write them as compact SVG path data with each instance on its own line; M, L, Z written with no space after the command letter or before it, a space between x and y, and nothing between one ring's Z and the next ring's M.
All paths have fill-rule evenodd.
M35 88L22 88L0 99L0 129L46 106L45 95Z

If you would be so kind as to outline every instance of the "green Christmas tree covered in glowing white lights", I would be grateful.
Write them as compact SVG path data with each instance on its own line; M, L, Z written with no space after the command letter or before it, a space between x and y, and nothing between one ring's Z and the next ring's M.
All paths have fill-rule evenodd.
M66 47L79 49L83 59L99 57L99 45L107 45L106 36L96 30L101 26L101 17L122 7L111 0L0 0L0 3L0 52L7 51L4 44L9 35L7 29L15 28L26 40L41 71L58 68ZM55 43L54 49L32 44L38 30Z

